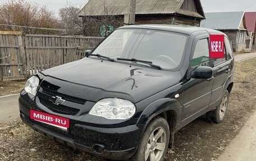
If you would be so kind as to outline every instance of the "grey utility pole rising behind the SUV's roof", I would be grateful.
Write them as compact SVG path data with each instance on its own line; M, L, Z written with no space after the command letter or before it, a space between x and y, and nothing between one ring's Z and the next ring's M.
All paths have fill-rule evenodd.
M129 13L125 14L125 20L124 20L125 26L135 24L135 12L136 12L136 0L130 0Z

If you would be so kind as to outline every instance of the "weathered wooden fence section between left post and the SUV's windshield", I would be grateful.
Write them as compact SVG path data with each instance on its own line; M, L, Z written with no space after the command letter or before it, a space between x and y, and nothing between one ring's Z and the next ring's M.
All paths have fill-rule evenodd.
M28 75L84 58L85 50L93 49L101 40L85 36L25 35Z

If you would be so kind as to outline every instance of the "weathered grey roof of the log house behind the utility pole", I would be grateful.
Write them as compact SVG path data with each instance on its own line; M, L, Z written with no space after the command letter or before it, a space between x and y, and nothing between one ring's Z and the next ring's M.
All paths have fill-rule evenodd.
M198 17L204 19L204 12L200 0L194 0L196 10L182 10L181 6L185 0L137 0L136 15L149 14L172 14ZM79 16L102 16L106 15L125 15L129 13L130 0L90 0L80 11Z

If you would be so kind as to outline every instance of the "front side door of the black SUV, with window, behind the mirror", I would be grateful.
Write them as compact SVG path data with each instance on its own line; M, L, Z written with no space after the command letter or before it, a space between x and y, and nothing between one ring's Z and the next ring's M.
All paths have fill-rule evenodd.
M189 73L198 66L211 66L209 34L196 37L193 42ZM186 125L207 112L212 96L212 85L212 80L205 79L190 79L188 82L185 82L182 125Z

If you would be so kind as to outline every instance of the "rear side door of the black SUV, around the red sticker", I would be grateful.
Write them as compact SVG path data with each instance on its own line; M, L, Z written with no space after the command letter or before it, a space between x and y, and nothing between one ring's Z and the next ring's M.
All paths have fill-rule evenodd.
M225 58L212 59L214 80L210 108L216 107L220 103L223 87L231 72L231 58L232 49L228 39L225 37Z

